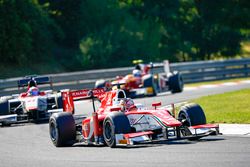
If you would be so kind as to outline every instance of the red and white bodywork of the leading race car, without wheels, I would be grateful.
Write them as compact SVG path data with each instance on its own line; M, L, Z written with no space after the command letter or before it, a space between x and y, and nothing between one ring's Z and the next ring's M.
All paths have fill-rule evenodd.
M63 110L66 112L74 113L74 100L85 99L88 97L89 90L78 90L71 92L62 92L63 97ZM101 106L93 113L92 117L87 117L82 121L82 134L85 139L91 140L95 136L101 136L103 133L102 123L108 113L118 111L120 107L113 106L113 99L118 98L119 93L124 93L122 90L113 90L105 92L104 89L94 89L93 94L100 99ZM125 97L125 95L124 95ZM157 103L156 106L159 106ZM155 107L156 107L155 106ZM176 120L168 110L152 109L152 110L137 110L136 107L131 108L125 112L129 115L152 115L157 117L157 121L163 123L163 126L178 127L181 126L181 122Z

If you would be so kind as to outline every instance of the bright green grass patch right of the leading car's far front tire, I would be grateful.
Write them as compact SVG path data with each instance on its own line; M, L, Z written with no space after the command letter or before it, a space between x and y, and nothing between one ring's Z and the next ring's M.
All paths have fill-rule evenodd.
M192 102L201 105L208 123L250 124L250 89L204 96Z

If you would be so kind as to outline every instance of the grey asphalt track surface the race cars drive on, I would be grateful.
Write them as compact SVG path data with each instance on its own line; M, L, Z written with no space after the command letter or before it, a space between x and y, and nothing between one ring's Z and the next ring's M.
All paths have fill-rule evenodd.
M250 88L250 83L186 89L163 93L155 98L136 99L150 105L187 101L204 95ZM249 100L249 99L246 99ZM56 148L50 141L48 124L19 124L0 128L0 166L250 166L250 136L210 136L200 141L168 141L157 144L115 148L77 145Z

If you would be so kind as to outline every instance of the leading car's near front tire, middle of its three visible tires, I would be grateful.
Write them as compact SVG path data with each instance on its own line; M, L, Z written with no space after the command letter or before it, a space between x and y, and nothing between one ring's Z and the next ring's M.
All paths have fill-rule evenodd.
M116 147L115 134L131 132L127 116L123 112L112 112L103 121L104 142L111 148Z

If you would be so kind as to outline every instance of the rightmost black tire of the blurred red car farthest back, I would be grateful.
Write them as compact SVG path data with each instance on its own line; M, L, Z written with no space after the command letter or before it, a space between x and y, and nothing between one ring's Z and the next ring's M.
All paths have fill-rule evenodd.
M183 91L184 83L183 83L182 76L179 72L174 71L169 76L168 82L169 82L169 90L172 93L179 93Z

